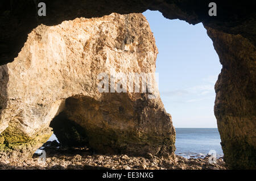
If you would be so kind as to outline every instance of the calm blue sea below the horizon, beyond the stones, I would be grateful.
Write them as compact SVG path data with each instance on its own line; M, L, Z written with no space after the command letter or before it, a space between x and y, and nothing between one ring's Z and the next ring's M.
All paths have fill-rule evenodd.
M175 154L190 158L204 157L209 150L216 150L222 157L221 139L217 128L176 128Z

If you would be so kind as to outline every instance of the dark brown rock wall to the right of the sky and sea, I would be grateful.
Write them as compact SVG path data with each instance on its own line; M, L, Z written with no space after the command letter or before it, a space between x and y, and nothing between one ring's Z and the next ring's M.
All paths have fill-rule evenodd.
M256 49L241 35L206 27L220 57L214 113L229 169L256 168Z

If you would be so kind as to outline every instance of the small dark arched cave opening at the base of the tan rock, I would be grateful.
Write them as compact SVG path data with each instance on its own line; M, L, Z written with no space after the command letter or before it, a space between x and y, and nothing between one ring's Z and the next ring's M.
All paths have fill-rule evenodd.
M81 127L76 121L69 119L71 112L75 112L79 108L84 112L89 111L90 104L84 104L81 102L87 102L89 99L70 97L65 100L65 106L61 108L61 112L58 113L49 124L52 128L53 134L49 140L44 143L35 154L42 154L42 150L46 151L47 157L52 157L57 154L92 154L93 150L89 148L89 138L86 135L86 130ZM90 102L90 100L89 100ZM86 117L86 116L83 116ZM84 121L84 120L82 120Z

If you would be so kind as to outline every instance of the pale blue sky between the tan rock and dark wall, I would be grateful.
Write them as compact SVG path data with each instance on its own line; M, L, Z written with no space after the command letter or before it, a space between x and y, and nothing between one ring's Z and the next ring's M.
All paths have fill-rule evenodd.
M214 84L221 64L202 23L170 20L147 10L158 57L159 91L176 128L217 128Z

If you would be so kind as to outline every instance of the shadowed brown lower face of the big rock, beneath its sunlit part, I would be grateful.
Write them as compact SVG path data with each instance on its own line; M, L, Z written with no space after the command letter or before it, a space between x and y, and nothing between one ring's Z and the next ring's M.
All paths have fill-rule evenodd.
M170 115L159 102L138 96L141 98L135 101L125 93L105 94L101 101L85 96L68 98L61 117L53 119L50 126L65 145L84 142L96 153L169 157L175 151Z

